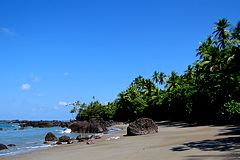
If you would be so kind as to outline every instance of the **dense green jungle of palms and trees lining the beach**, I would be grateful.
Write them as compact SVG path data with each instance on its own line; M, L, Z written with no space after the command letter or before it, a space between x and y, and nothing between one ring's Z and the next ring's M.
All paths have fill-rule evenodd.
M240 22L215 23L196 51L197 60L182 75L155 71L139 76L107 105L93 100L71 104L77 120L101 117L132 121L139 117L202 123L240 121Z

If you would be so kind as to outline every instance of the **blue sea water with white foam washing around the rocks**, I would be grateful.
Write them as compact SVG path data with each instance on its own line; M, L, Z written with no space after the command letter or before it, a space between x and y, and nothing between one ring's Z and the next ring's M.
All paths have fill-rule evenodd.
M64 132L65 128L61 127L26 127L24 129L21 129L18 124L0 123L0 128L0 143L5 145L16 145L15 147L8 147L6 150L1 150L0 157L23 154L37 149L52 147L53 145L43 144L45 135L48 132L54 133L57 137L67 135L71 138L76 138L79 135L77 133L66 133Z

